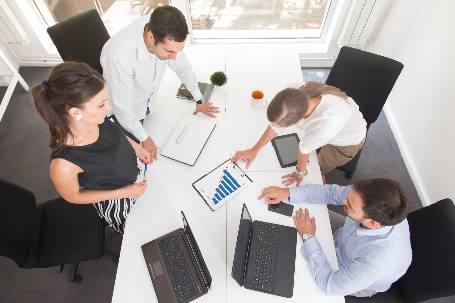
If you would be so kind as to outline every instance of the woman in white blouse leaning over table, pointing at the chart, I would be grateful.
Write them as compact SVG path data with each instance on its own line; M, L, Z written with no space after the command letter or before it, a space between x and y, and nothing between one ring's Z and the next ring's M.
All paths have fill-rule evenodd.
M354 100L338 88L320 82L289 85L271 100L267 108L270 125L251 149L238 151L233 160L247 159L248 168L257 153L271 139L292 125L305 131L298 151L296 170L282 179L285 186L303 179L309 154L317 150L323 183L332 169L346 164L362 148L367 122ZM297 89L298 88L298 89Z

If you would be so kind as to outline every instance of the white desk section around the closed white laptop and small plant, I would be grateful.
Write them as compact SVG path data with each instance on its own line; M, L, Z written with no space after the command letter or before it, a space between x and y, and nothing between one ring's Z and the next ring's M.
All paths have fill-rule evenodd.
M223 49L212 49L210 52L204 52L201 49L190 47L188 49L185 48L185 54L199 82L210 83L210 75L212 73L225 71ZM212 63L213 58L219 60L218 64ZM153 116L147 115L144 120L144 128L157 147L164 146L166 140L185 113L191 114L196 110L196 103L194 101L176 97L180 85L181 81L177 75L170 68L167 68L158 89ZM215 87L210 97L210 102L213 102L213 106L218 106L221 112L214 113L217 118L212 118L202 113L197 114L201 118L215 121L216 126L194 166L161 156L159 154L160 149L158 149L158 161L154 161L152 165L148 166L147 172L211 171L228 159L226 157L225 87Z

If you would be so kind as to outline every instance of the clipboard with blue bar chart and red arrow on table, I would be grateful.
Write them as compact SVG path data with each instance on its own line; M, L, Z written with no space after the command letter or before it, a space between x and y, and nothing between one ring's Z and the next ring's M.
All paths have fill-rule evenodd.
M242 191L253 181L231 159L193 183L194 189L212 211Z

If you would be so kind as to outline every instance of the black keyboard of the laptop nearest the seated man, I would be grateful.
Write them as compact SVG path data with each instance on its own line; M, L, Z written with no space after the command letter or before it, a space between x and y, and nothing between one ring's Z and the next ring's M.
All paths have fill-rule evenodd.
M261 223L253 274L253 288L255 289L274 291L278 231L279 227L276 225Z

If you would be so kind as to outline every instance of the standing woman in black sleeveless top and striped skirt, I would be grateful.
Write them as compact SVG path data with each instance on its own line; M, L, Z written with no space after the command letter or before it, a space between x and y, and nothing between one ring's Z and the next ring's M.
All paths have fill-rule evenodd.
M106 118L112 106L103 76L85 63L65 62L31 95L49 126L55 188L68 202L93 203L110 229L123 234L131 207L147 188L145 181L135 183L137 158L148 163L149 153Z

